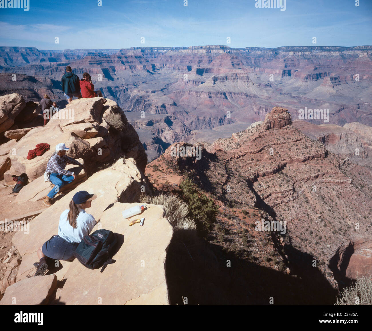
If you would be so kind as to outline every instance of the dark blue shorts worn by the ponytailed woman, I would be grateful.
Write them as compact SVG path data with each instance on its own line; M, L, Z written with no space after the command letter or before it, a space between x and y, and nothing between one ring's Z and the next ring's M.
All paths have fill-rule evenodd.
M65 241L58 235L54 235L48 241L44 242L41 248L43 254L53 260L70 261L73 260L78 242Z

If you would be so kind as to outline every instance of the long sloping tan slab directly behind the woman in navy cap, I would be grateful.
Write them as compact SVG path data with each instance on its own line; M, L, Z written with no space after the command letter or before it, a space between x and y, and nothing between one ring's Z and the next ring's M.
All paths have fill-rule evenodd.
M141 185L143 186L141 187ZM147 189L147 184L144 182L134 159L119 159L111 167L94 173L77 188L57 200L32 220L29 234L25 235L18 231L14 235L13 243L22 255L17 280L23 279L27 275L32 276L35 273L32 264L38 261L36 251L52 235L57 234L59 217L65 209L68 209L69 203L76 192L85 190L97 195L97 199L92 202L92 207L87 212L99 219L103 211L113 203L132 202L137 199L141 189L143 191L143 187ZM25 188L23 187L23 189ZM61 264L63 268L57 273L57 277L59 275L64 276L70 263L62 261ZM61 280L61 278L58 278L58 280Z

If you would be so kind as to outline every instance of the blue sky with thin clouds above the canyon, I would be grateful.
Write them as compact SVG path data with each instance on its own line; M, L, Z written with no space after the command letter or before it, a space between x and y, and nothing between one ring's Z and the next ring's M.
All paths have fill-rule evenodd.
M286 0L285 11L256 8L255 0L102 0L101 7L97 0L29 1L28 11L0 8L1 46L372 45L371 0L359 7L355 0Z

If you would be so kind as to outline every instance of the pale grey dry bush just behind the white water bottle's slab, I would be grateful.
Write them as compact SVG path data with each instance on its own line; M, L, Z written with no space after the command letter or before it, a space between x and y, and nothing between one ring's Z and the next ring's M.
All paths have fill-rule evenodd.
M152 203L153 205L163 205L165 209L165 217L169 220L174 229L196 229L195 222L190 217L186 217L189 212L189 206L176 195L142 195L140 201L144 203Z

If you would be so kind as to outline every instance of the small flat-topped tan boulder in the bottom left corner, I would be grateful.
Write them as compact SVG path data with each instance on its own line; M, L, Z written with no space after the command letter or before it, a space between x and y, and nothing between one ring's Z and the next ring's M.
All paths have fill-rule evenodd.
M55 275L26 278L7 287L0 305L47 305L56 287Z

